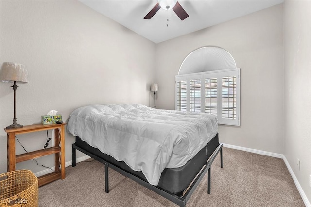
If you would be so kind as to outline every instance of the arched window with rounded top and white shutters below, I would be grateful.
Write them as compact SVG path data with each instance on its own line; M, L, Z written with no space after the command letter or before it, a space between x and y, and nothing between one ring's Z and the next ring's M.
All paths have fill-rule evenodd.
M226 50L208 46L191 52L175 76L175 109L205 112L220 124L240 125L240 69Z

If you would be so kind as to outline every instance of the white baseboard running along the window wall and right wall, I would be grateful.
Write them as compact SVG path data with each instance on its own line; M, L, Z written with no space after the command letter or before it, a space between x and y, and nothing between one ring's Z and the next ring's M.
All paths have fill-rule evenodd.
M266 152L266 151L262 151L262 150L250 149L250 148L246 148L246 147L239 147L239 146L235 146L235 145L231 145L231 144L223 144L223 146L227 147L227 148L232 148L235 150L242 150L242 151L255 153L255 154L259 154L259 155L266 155L266 156L272 156L272 157L283 159L288 171L290 172L290 174L294 180L296 188L298 189L303 202L305 203L306 207L311 207L311 204L307 198L306 193L302 190L301 185L300 185L296 175L294 174L294 171L292 170L290 164L288 163L286 157L283 154L271 153L271 152Z

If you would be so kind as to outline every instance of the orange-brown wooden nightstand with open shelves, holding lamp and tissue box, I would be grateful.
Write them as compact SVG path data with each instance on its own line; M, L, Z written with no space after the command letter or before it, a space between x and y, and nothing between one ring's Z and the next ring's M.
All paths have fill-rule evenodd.
M38 177L39 186L50 183L59 178L65 178L65 124L34 124L24 126L18 129L4 129L7 133L7 171L15 171L15 164L37 157L55 154L55 171ZM55 146L36 150L33 152L15 155L15 136L18 134L26 134L38 131L55 130ZM59 146L60 144L60 146ZM61 167L61 169L60 169Z

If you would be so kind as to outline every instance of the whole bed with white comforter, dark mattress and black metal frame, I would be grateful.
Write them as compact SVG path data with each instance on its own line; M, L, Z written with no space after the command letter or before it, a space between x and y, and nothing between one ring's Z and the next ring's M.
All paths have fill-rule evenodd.
M74 110L67 131L76 149L108 168L135 180L179 206L192 192L220 152L218 122L206 113L159 110L141 104L88 105Z

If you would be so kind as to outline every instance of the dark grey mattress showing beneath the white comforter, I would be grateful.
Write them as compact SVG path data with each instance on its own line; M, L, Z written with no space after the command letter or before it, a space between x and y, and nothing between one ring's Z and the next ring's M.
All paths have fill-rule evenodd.
M87 152L101 157L107 162L114 164L122 170L134 174L144 181L147 181L146 177L141 171L134 171L126 163L117 161L112 156L102 153L99 149L88 145L85 141L82 141L78 136L76 137L75 145L86 150ZM205 165L209 157L214 153L219 146L218 133L207 145L202 148L192 159L190 159L184 166L178 168L165 168L161 173L161 177L158 182L158 187L181 196L184 190L190 185L191 181L199 173L201 168Z

